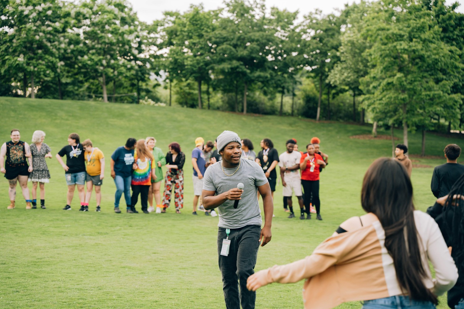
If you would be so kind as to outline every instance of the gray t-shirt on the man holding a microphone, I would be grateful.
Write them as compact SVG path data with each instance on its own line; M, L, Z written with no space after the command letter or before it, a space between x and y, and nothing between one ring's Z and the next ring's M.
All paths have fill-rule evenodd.
M216 195L237 188L238 183L243 183L242 199L238 202L238 207L233 208L234 201L227 200L218 208L219 223L218 227L239 228L246 225L259 225L263 223L261 210L258 203L258 187L268 182L263 169L254 161L241 159L240 168L227 169L224 172L232 176L224 175L221 169L221 162L210 165L203 178L203 189L216 191Z

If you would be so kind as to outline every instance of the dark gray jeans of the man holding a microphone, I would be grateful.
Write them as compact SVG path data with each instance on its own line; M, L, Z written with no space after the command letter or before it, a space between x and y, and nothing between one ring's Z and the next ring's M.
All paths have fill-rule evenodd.
M259 235L261 227L247 225L240 228L231 228L229 240L231 240L228 256L220 255L222 240L226 239L226 229L218 230L218 255L219 270L222 274L222 289L227 309L254 309L256 292L246 289L246 280L252 274L258 256ZM240 284L240 291L238 290Z

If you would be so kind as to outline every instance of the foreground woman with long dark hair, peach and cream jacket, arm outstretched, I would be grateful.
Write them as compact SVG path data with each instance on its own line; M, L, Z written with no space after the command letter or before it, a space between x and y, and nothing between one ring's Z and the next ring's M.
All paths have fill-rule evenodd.
M415 210L404 166L392 158L375 160L364 176L361 205L367 214L343 222L310 256L258 271L247 288L306 278L306 309L361 300L363 309L435 308L458 271L437 223Z

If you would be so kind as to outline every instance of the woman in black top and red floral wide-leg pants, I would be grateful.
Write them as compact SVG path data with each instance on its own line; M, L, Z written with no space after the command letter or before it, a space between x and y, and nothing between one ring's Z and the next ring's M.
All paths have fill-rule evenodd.
M171 192L174 187L174 204L175 212L180 214L180 209L184 207L184 163L185 154L180 151L178 143L169 144L169 152L166 154L166 177L164 177L164 194L163 194L163 210L171 203Z

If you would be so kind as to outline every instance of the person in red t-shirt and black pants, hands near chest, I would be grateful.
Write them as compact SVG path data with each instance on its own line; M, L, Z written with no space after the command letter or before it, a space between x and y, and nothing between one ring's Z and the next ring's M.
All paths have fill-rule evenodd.
M324 168L325 162L320 155L314 152L315 148L313 144L308 144L306 146L306 151L308 152L303 154L300 159L301 184L304 190L306 219L311 219L309 204L312 203L316 208L316 219L322 220L320 213L321 201L319 200L319 167ZM300 219L304 219L303 213Z

